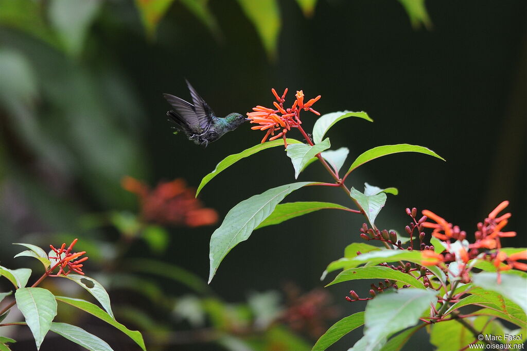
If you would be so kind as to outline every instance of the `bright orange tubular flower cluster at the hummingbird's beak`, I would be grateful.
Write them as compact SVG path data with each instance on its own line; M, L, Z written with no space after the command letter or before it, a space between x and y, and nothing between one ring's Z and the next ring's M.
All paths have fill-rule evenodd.
M271 91L276 98L276 101L273 103L275 108L270 109L258 105L255 108L252 108L254 112L247 113L248 120L250 120L250 123L258 124L251 127L251 129L267 130L264 139L261 141L262 143L264 143L269 137L271 137L269 140L275 140L282 137L284 139L284 145L287 147L286 133L290 131L291 128L301 128L301 110L311 111L320 115L320 113L311 108L311 106L320 99L320 95L304 103L304 92L301 90L297 91L295 102L290 108L285 108L284 102L286 101L287 88L281 96L278 95L275 89L271 89ZM277 132L276 135L275 132Z

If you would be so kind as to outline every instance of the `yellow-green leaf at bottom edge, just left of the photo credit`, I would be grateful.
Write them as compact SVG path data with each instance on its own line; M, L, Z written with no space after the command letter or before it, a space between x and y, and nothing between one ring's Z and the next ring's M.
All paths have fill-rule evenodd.
M474 335L457 320L446 320L432 325L430 343L437 347L436 351L461 350L473 341Z

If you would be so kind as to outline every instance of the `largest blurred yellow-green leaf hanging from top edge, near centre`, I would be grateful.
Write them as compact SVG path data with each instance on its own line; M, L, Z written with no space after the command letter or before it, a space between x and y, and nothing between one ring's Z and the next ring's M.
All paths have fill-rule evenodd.
M267 54L274 57L280 31L280 11L276 0L238 0L238 3L255 25Z

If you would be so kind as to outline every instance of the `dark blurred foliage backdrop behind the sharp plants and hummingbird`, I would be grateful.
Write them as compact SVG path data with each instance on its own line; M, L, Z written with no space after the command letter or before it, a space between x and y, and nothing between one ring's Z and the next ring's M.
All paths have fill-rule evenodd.
M447 160L394 155L358 170L355 187L399 189L379 227L403 228L404 208L415 206L470 233L508 199L519 236L506 245L524 246L525 14L521 0L0 0L2 264L24 266L11 259L12 242L79 237L91 258L85 271L111 290L118 320L144 331L151 349L304 349L320 334L314 324L337 317L326 314L326 293L340 316L362 308L345 303L340 286L302 295L287 285L323 286L321 272L358 240L362 218L321 211L261 229L208 287L216 227L149 221L144 201L121 187L125 176L151 186L182 177L195 187L223 157L259 142L243 126L207 149L172 135L161 93L188 98L184 77L220 115L268 104L271 87L321 94L321 113L367 111L375 123L331 131L350 158L408 142ZM222 218L241 199L291 182L284 156L268 150L240 162L200 199ZM312 167L300 177L326 174ZM290 200L346 203L324 190ZM116 350L132 347L106 339Z

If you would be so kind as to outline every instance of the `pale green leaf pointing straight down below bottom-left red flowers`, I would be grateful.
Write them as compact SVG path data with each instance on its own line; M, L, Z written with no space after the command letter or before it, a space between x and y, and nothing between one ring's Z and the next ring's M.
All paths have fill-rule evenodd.
M51 322L57 315L53 294L42 288L19 288L15 291L16 307L22 312L35 338L36 348L44 341Z

